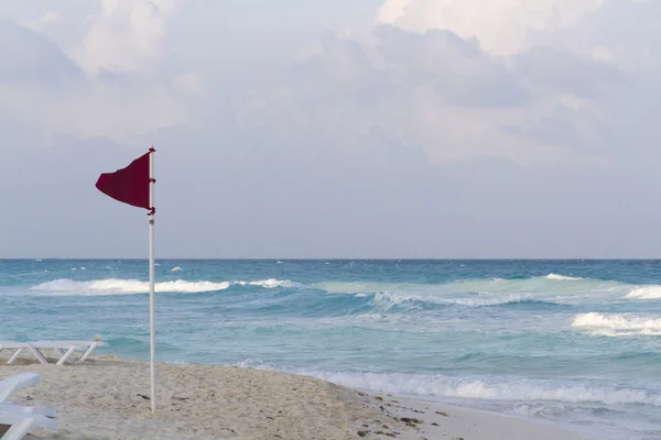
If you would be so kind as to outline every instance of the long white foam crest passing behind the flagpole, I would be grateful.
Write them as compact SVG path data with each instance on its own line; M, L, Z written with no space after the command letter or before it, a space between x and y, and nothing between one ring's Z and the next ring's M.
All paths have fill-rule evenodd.
M155 284L159 293L195 294L224 290L229 283L186 282L177 279ZM149 283L138 279L95 279L77 282L73 279L55 279L30 288L31 292L47 295L130 295L149 293Z

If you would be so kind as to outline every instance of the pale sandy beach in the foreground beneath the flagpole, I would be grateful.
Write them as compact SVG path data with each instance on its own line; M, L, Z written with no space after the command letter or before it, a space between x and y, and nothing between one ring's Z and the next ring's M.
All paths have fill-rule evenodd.
M57 431L35 430L30 439L582 439L517 418L251 369L160 363L155 415L140 396L150 393L147 362L109 355L67 366L2 365L0 380L21 372L42 382L13 402L58 413Z

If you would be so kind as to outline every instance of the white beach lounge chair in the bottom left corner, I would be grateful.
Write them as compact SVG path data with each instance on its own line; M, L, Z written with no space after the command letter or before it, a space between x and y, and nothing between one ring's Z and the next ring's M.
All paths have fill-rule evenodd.
M32 428L57 429L57 421L54 419L55 409L8 402L18 391L34 386L39 382L39 374L34 373L18 374L0 381L0 435L3 426L9 426L0 440L20 440Z

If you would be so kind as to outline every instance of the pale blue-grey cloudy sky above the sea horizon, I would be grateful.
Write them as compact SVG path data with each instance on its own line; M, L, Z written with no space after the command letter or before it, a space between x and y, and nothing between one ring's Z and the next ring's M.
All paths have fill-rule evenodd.
M3 0L0 257L661 257L655 0Z

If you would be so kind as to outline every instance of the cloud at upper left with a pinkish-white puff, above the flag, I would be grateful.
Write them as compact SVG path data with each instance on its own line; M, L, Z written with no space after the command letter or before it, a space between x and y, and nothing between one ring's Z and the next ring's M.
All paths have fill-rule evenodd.
M77 136L133 136L186 121L202 75L152 68L164 53L162 38L174 1L104 1L80 36L83 52L61 47L40 26L0 22L0 110L35 130ZM57 20L55 20L57 18ZM64 15L48 12L40 23ZM128 32L127 32L128 31Z

